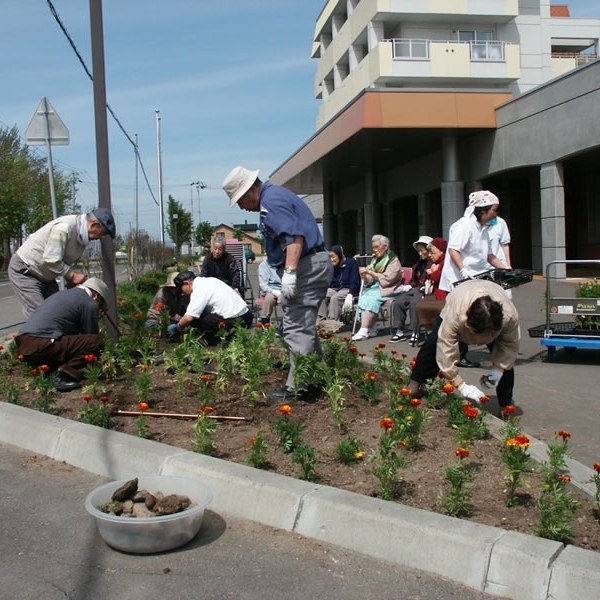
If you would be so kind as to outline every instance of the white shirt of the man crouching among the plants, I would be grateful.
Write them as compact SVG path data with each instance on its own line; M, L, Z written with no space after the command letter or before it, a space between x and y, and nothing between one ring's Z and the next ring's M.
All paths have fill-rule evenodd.
M248 310L246 301L225 282L216 277L196 277L186 315L198 318L208 309L224 319L241 317Z

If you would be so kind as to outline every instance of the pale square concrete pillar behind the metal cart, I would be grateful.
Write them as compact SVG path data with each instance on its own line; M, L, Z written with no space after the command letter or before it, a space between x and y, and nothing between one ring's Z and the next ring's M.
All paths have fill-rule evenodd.
M542 229L542 268L553 260L565 260L565 190L561 163L540 167L540 207ZM566 265L553 267L552 276L566 277Z

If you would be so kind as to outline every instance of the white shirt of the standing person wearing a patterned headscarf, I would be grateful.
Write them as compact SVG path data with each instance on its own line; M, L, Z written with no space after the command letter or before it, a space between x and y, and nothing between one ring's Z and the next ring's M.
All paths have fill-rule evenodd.
M450 227L448 250L458 250L463 265L473 274L482 273L490 268L487 259L493 252L488 229L480 225L474 215L462 217ZM452 284L460 279L460 269L448 252L440 278L440 289L451 292Z

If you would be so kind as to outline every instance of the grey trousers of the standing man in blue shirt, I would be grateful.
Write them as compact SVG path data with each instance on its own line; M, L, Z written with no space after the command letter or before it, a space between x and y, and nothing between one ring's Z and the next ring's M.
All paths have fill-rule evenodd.
M291 300L281 297L283 339L290 349L290 372L286 381L290 388L294 386L295 355L312 352L323 355L317 334L317 312L333 276L329 253L323 251L304 256L298 263L296 274L298 294Z

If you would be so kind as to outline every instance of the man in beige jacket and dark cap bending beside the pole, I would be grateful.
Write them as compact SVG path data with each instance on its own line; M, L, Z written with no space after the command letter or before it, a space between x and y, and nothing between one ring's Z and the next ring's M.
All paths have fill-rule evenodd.
M73 264L91 241L105 235L113 239L116 235L115 220L108 208L64 215L32 233L8 265L8 278L23 314L29 317L48 296L58 292L59 277L65 278L67 287L83 283L85 273L76 271Z

